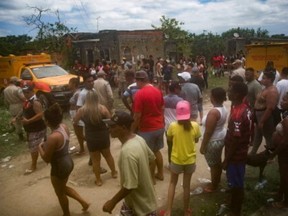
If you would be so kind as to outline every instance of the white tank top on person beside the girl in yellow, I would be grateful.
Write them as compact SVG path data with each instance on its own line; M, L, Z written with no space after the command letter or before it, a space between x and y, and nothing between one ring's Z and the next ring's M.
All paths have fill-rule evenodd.
M226 136L226 128L224 128L224 125L226 123L226 119L228 116L228 111L225 106L223 107L214 107L213 109L217 109L220 113L220 119L217 121L216 128L214 130L214 133L212 134L210 141L216 141L216 140L222 140ZM204 116L202 120L202 125L203 125L203 134L205 133L205 128L206 128L206 119L207 115Z

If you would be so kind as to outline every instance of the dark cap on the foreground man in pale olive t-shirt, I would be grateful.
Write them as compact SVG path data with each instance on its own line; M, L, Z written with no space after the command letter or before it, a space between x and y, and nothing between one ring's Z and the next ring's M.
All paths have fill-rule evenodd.
M107 123L109 126L119 125L119 126L125 126L126 128L130 128L133 121L134 119L130 114L121 110L115 111L111 119L104 120L104 122Z

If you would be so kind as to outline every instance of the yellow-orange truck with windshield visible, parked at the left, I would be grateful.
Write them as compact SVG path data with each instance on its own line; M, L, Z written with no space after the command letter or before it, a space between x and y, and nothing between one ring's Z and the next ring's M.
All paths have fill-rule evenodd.
M72 77L77 77L53 64L51 56L45 53L0 56L0 92L8 85L11 76L22 79L22 85L32 82L37 97L45 106L52 102L69 105L71 91L68 83Z

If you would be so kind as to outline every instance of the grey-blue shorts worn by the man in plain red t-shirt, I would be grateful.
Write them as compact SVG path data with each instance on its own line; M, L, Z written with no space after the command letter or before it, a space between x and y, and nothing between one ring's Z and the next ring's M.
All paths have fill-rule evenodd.
M164 147L164 128L156 131L138 132L153 152L157 152Z

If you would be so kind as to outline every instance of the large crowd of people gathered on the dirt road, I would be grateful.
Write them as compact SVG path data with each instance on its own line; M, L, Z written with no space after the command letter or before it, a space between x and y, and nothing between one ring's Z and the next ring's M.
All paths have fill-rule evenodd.
M215 61L219 60L215 58ZM210 93L213 108L204 114L202 92L208 88L208 72L203 56L191 61L181 59L176 65L163 58L154 63L151 55L136 65L122 58L119 66L116 61L111 65L103 61L91 64L88 70L76 62L73 69L83 77L83 86L80 87L78 78L70 80L73 96L69 112L79 143L77 154L84 155L86 143L97 186L105 183L101 174L107 172L101 167L101 156L111 170L111 177L120 176L121 188L104 204L104 212L111 213L124 199L121 212L125 215L157 215L154 185L164 180L161 152L165 146L164 136L168 145L170 183L167 208L161 214L172 214L175 187L179 174L183 173L184 214L192 215L190 185L196 155L201 153L211 172L211 184L204 191L217 191L222 170L226 170L231 195L229 215L241 215L249 147L252 146L249 154L256 154L262 137L267 148L274 152L273 156L278 155L279 202L273 205L288 207L288 133L285 133L288 131L288 68L278 72L280 78L274 83L277 71L273 62L267 63L260 80L255 79L253 68L245 68L243 59L235 59L232 65L228 90L213 88ZM221 76L219 67L216 69L213 73ZM177 80L173 80L173 73L177 73ZM20 88L17 82L17 78L11 77L4 97L19 138L23 139L21 124L27 134L32 164L25 174L36 170L40 154L51 164L51 182L64 215L70 215L67 196L87 211L90 203L66 186L74 164L68 152L70 133L62 123L60 106L56 103L43 110L33 85ZM115 87L126 111L115 110ZM231 101L230 113L224 105L226 95ZM48 136L46 127L51 129ZM121 142L119 173L110 151L110 136ZM202 141L198 153L195 145L199 140Z

